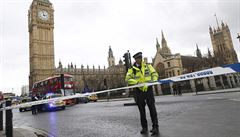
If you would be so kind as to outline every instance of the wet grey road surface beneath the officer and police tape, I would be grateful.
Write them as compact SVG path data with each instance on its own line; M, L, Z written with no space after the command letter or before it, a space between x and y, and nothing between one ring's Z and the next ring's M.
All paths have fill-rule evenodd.
M56 137L142 137L133 100L78 104L39 113L13 111L15 127L33 127ZM156 97L159 137L239 137L240 92ZM149 111L147 111L151 127ZM148 135L147 135L148 136Z

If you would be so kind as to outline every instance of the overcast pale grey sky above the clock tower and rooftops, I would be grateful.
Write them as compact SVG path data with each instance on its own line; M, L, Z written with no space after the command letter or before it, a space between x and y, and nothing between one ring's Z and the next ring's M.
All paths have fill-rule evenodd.
M209 25L228 24L240 60L240 0L50 0L54 6L55 65L73 62L92 68L107 64L111 45L116 62L129 50L156 54L161 30L172 53L212 51ZM0 91L20 94L28 84L28 10L32 0L0 0Z

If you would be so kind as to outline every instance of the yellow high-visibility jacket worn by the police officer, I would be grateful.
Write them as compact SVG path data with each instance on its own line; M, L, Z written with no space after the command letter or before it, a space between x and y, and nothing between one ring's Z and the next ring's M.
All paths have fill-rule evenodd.
M136 85L139 83L155 82L158 80L158 74L150 64L142 61L141 69L136 66L128 69L125 81L128 85ZM139 87L143 91L143 87Z

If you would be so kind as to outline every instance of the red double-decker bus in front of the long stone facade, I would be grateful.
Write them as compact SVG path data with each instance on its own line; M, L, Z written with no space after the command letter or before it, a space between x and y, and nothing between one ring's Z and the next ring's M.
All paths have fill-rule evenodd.
M64 79L64 83L63 83ZM41 81L37 81L33 84L32 94L45 96L48 93L62 94L64 96L73 95L75 82L73 81L73 76L68 74L63 74L61 80L61 75L46 78ZM64 86L64 88L63 88ZM66 105L75 104L75 99L65 100Z

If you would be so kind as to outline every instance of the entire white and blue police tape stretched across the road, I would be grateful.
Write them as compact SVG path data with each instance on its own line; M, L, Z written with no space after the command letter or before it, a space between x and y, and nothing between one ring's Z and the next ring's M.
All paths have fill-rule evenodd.
M22 104L18 104L18 105L3 107L3 108L0 109L0 111L9 110L9 109L17 109L17 108L21 108L21 107L29 107L29 106L32 106L32 105L40 105L40 104L45 104L45 103L51 103L53 101L87 97L87 96L90 96L90 95L93 95L93 94L113 92L113 91L117 91L117 90L126 90L126 89L131 89L131 88L142 87L142 86L153 86L153 85L159 85L159 84L168 84L168 83L174 83L174 82L179 82L179 81L205 78L205 77L211 77L211 76L217 76L217 75L223 75L223 74L239 73L239 72L240 72L240 63L229 64L229 65L225 65L225 66L222 66L222 67L215 67L215 68L211 68L211 69L205 69L205 70L196 71L196 72L192 72L192 73L187 73L187 74L183 74L183 75L179 75L179 76L175 76L175 77L170 77L170 78L162 79L162 80L152 82L152 83L142 83L142 84L133 85L133 86L126 86L126 87L121 87L121 88L102 90L102 91L91 92L91 93L86 93L86 94L75 94L75 95L63 96L63 97L59 97L59 98L44 99L44 100L39 100L39 101L22 103Z

